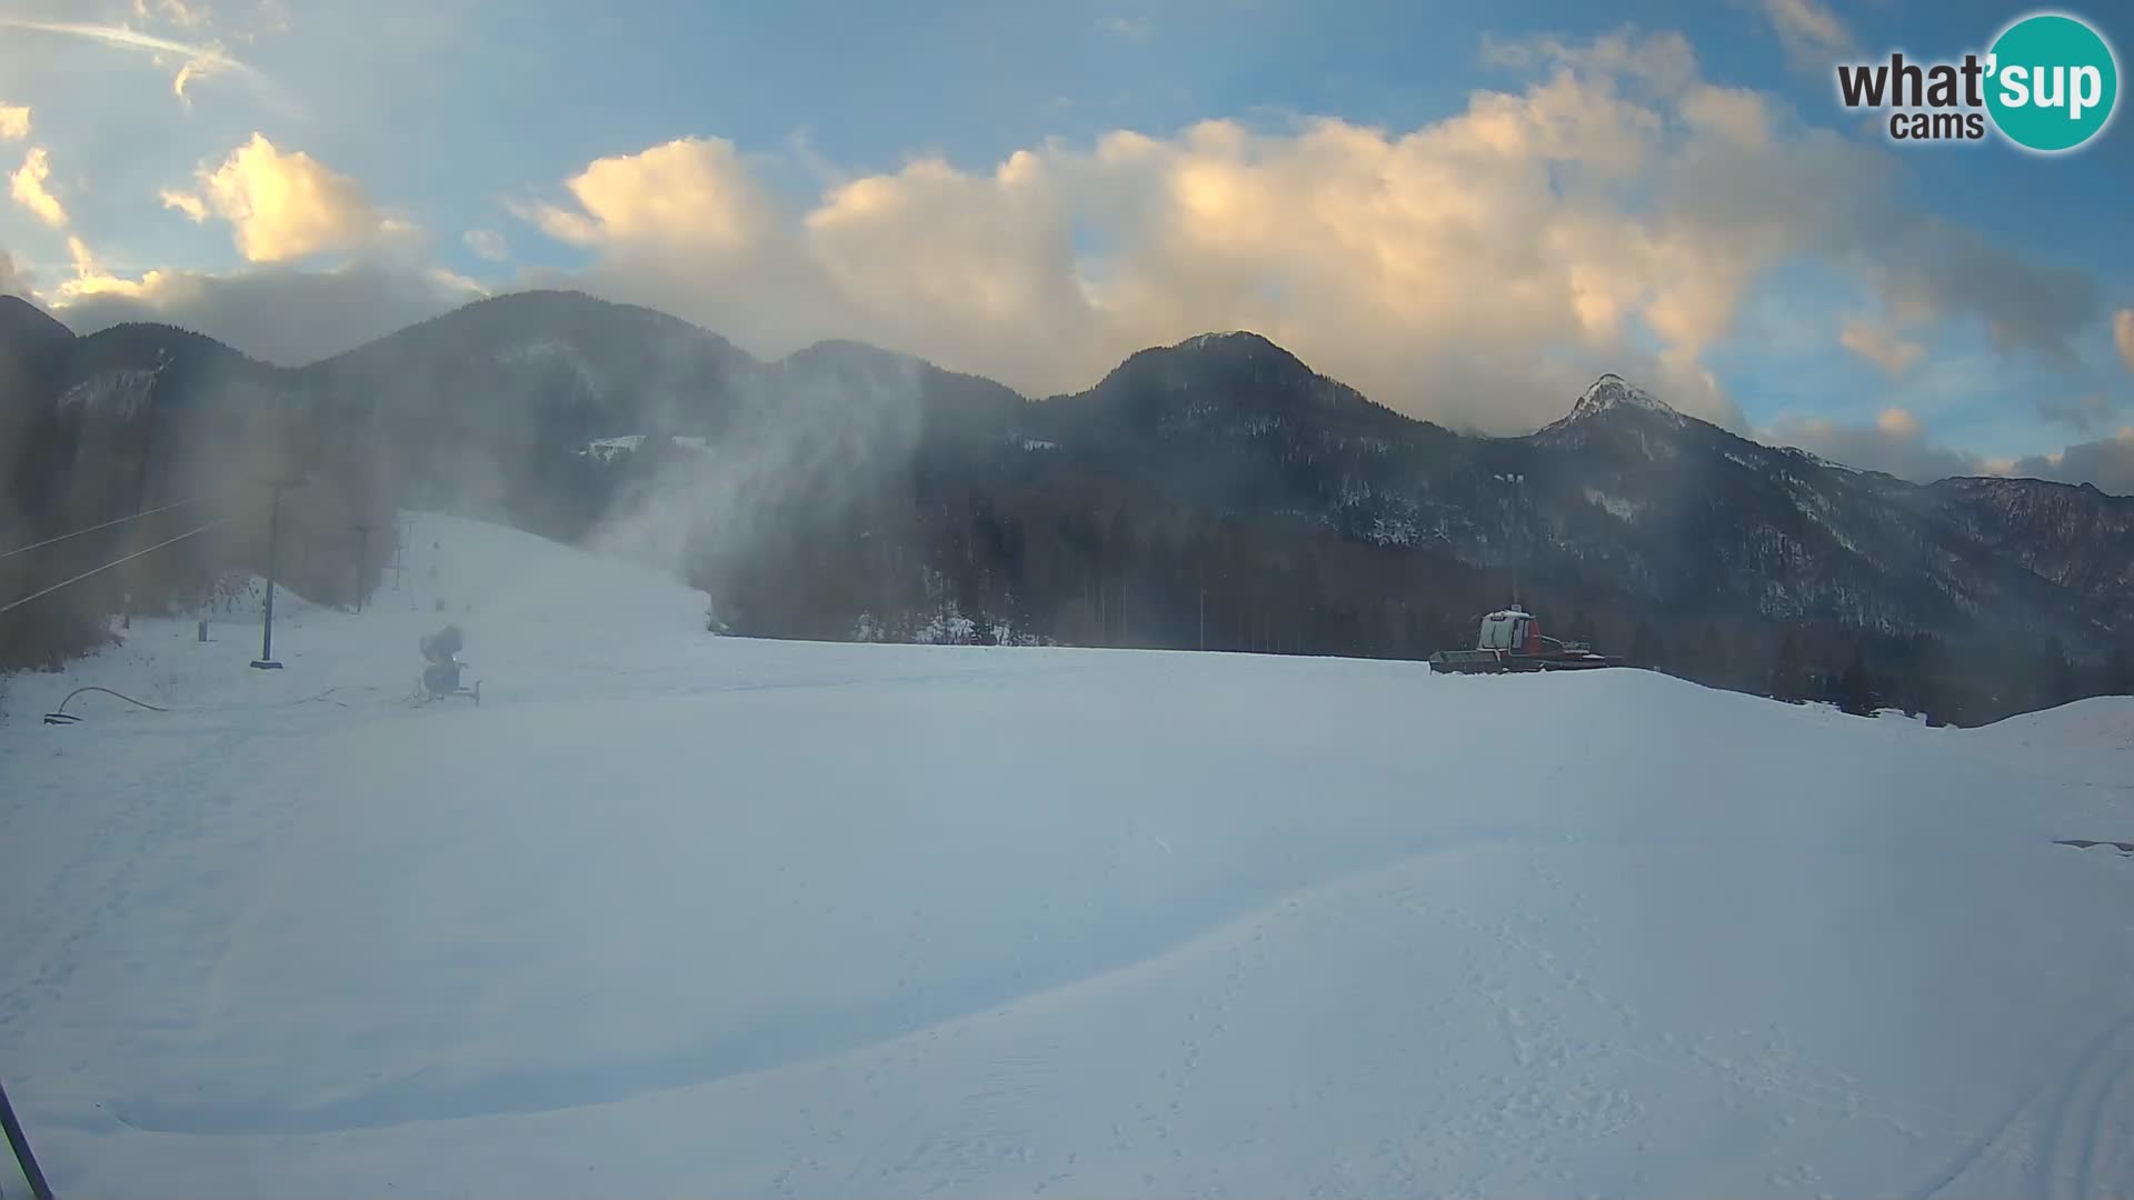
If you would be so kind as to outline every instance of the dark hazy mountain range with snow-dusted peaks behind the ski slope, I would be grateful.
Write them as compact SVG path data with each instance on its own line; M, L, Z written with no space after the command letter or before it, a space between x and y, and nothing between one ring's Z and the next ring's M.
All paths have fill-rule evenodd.
M75 337L0 299L0 421L32 525L267 470L267 423L275 455L382 502L666 555L743 632L937 636L950 613L1110 645L1415 653L1470 636L1517 570L1545 619L1656 658L1692 630L1737 664L1790 630L1825 658L1850 634L2053 641L2076 664L2134 641L2134 498L1912 485L1618 376L1530 436L1462 436L1253 333L1026 399L851 342L764 363L576 293L476 301L301 369L160 325ZM85 500L81 446L132 495L98 476Z

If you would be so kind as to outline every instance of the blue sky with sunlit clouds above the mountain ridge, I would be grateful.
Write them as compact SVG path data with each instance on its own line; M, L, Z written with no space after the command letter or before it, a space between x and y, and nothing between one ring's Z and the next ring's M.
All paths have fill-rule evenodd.
M1863 465L2134 491L2134 126L2040 158L1835 100L1837 58L2025 11L0 0L0 288L301 361L583 286L1035 395L1255 327L1490 431L1620 369Z

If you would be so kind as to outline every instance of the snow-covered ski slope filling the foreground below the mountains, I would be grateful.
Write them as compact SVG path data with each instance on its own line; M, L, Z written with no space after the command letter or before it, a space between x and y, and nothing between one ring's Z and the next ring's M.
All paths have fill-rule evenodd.
M2053 843L2134 841L2130 700L715 638L444 517L256 651L9 683L64 1198L2134 1187L2134 860Z

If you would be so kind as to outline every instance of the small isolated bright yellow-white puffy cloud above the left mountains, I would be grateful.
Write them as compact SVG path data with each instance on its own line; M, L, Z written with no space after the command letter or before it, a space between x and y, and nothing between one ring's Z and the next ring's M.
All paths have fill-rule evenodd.
M211 209L230 222L248 263L290 263L414 233L380 214L348 175L309 154L284 154L258 132L213 171L203 169L198 184L198 194L166 192L164 205L186 216Z

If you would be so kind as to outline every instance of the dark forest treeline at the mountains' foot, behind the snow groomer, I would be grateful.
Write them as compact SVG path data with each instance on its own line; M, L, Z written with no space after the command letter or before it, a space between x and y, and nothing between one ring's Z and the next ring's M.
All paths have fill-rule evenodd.
M935 495L905 521L883 512L817 525L700 583L734 632L755 636L894 638L945 628L952 613L969 619L952 641L1411 660L1472 645L1481 613L1513 594L1507 570L1342 540L1302 519L1150 519L988 493ZM1861 715L1886 707L1970 726L2134 694L2125 647L2072 653L2059 636L1989 634L1953 645L1835 617L1654 611L1560 568L1530 572L1519 594L1551 634L1635 666Z

